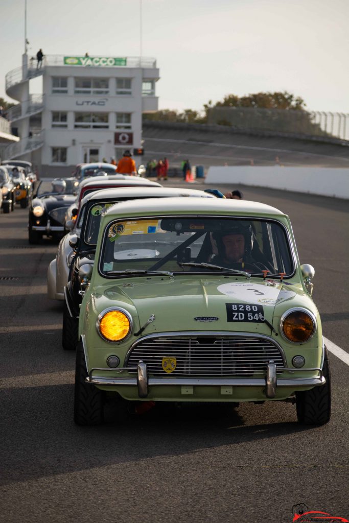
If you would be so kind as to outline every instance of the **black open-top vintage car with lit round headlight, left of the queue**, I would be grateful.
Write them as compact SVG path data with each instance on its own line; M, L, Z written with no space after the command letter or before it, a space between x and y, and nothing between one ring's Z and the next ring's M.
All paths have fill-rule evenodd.
M44 178L33 194L29 207L29 243L40 243L42 236L61 238L67 207L76 198L75 178Z

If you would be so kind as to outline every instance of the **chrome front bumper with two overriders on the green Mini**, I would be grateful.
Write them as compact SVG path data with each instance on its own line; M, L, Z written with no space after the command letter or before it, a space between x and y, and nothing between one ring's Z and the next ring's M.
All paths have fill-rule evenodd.
M112 371L122 372L137 370L137 378L106 378L103 376L93 376L95 371ZM149 378L147 374L147 365L140 360L136 368L119 368L119 369L102 369L94 368L91 369L86 378L87 383L94 385L115 385L115 386L137 386L138 395L141 398L148 396L148 386L155 385L197 385L197 386L242 386L242 387L264 387L265 396L272 399L275 397L277 387L290 387L294 390L303 387L314 387L318 385L324 385L326 380L323 377L322 370L320 368L312 369L288 369L283 368L283 371L287 372L319 372L317 378L280 378L276 376L276 365L273 361L269 361L266 366L266 373L264 378ZM280 369L278 369L280 371Z

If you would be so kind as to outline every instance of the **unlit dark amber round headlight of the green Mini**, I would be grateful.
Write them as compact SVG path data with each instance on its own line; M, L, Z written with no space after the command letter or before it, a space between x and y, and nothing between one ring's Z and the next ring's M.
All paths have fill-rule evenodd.
M280 319L280 331L292 343L305 343L315 333L316 317L306 309L290 309Z

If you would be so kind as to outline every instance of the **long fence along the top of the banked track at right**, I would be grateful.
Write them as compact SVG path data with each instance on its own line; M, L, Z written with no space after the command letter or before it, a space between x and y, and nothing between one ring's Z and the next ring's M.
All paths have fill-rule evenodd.
M277 131L349 140L349 115L339 112L212 107L208 123L238 129Z

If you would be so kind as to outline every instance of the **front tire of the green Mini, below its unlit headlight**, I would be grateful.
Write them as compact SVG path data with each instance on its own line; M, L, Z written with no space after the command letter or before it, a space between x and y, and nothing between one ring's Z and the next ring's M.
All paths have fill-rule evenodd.
M297 418L303 425L325 425L331 417L331 369L328 350L322 367L326 383L310 391L296 392Z

